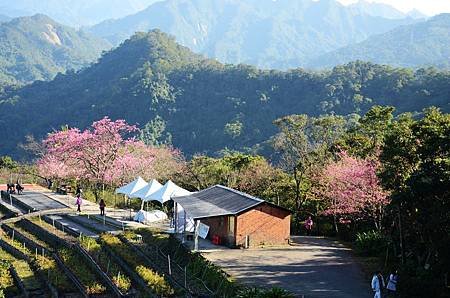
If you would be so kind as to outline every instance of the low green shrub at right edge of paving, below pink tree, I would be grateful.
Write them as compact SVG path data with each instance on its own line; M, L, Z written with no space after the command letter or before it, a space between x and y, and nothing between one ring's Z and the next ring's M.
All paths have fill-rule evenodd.
M364 256L378 256L386 249L388 242L379 231L361 232L356 234L356 252Z

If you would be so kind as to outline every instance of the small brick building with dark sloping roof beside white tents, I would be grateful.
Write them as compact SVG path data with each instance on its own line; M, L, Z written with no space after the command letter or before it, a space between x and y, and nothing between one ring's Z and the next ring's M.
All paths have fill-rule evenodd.
M220 239L230 247L287 244L291 212L240 191L216 185L188 196L172 198L176 230L184 218L209 226L208 239Z

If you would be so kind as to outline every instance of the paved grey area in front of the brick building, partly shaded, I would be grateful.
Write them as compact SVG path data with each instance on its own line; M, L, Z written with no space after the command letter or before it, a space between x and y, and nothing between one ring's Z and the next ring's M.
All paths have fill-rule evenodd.
M305 298L372 297L349 249L319 237L293 237L288 247L233 249L203 255L238 280L280 287Z

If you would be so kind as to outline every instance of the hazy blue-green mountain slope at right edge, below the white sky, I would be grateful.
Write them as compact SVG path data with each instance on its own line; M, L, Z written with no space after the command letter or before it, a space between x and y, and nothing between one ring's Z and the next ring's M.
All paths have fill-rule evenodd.
M396 66L450 66L450 14L401 26L384 34L325 54L309 63L329 67L364 60Z

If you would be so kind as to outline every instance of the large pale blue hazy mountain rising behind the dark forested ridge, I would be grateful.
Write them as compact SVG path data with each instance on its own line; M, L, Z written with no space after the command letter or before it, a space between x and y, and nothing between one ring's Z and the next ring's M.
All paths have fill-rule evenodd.
M158 28L194 52L221 62L287 69L416 21L379 14L336 0L166 0L90 30L118 44L136 31Z

